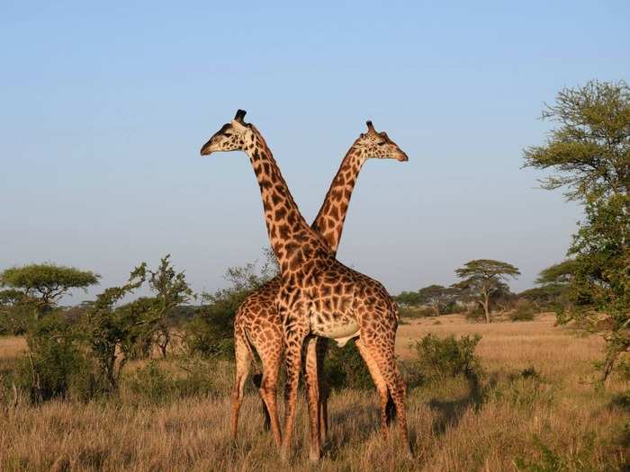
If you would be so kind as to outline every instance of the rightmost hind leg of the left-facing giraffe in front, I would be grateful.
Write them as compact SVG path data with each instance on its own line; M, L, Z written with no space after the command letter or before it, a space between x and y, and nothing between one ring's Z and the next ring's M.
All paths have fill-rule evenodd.
M364 338L363 335L362 338ZM374 359L374 362L383 375L387 388L392 395L393 403L396 406L396 416L398 427L401 431L401 440L405 449L410 454L411 449L409 432L407 430L407 412L405 409L407 387L405 386L405 381L402 379L401 372L398 370L398 366L396 365L394 357L394 339L394 336L391 336L385 340L377 340L374 336L366 335L363 342L365 343L367 350L370 352L370 356ZM385 402L385 405L386 404L387 402Z

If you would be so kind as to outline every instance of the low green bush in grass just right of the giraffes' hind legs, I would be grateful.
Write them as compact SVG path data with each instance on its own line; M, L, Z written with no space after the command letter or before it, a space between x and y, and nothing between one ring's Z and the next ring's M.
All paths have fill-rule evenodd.
M453 334L444 339L427 334L411 346L416 354L410 363L412 382L479 376L482 366L475 349L481 339L479 334L465 335L459 340Z

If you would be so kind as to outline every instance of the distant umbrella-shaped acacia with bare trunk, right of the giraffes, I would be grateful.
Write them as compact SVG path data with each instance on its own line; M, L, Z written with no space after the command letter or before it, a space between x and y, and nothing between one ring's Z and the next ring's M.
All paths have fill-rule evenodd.
M486 321L491 323L491 297L505 287L509 277L520 275L518 268L509 263L492 259L475 259L455 271L462 281L455 283L455 289L462 289L471 294L482 306Z

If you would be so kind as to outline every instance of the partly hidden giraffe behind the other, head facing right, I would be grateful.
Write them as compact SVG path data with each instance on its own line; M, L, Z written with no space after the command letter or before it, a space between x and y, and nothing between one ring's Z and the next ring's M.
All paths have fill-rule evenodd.
M322 234L332 254L337 254L341 232L343 231L347 209L362 165L370 158L396 159L407 161L408 157L386 133L378 133L372 121L367 121L367 132L348 149L341 161L338 173L330 184L320 212L311 227ZM234 344L236 359L236 375L232 391L232 437L236 439L238 432L238 411L243 400L245 381L253 360L253 349L256 349L263 367L262 379L255 378L266 423L272 429L274 438L280 446L281 433L277 418L276 386L278 369L284 350L282 319L275 309L275 299L280 289L280 276L268 281L265 285L249 295L238 307L234 319ZM320 388L320 441L324 441L328 430L327 390L323 378L323 358L328 347L327 338L317 340L317 371ZM306 375L312 375L309 370Z

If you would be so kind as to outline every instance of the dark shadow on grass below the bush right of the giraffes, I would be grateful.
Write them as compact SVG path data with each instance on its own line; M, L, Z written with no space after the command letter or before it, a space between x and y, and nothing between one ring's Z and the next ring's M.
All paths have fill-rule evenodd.
M455 427L468 410L479 411L486 400L486 393L498 382L498 378L494 374L491 375L486 385L482 385L479 376L476 375L468 376L466 379L469 387L466 395L455 400L432 398L428 402L429 408L439 414L433 423L433 432L437 435L444 434L449 427Z

